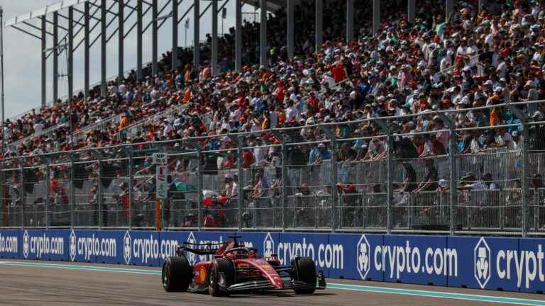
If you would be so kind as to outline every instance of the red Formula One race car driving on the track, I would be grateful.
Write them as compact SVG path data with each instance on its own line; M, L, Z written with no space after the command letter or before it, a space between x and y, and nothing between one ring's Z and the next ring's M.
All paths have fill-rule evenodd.
M291 266L280 266L277 256L265 260L258 250L244 246L240 236L220 244L185 242L177 256L163 263L163 288L167 292L208 292L212 296L231 293L254 293L264 290L294 290L297 294L312 294L325 289L324 274L316 273L314 261L297 257ZM189 264L186 253L214 256L211 261Z

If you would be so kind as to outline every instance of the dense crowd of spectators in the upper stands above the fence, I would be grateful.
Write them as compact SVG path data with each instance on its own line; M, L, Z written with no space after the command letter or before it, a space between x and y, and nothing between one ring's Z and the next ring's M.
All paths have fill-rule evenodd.
M241 72L211 75L209 62L194 71L189 51L180 52L184 67L170 71L170 53L160 63L160 76L136 81L131 73L121 84L110 82L106 98L99 89L84 101L80 94L72 106L57 103L6 122L9 142L55 125L53 134L34 137L7 151L9 156L53 152L56 150L105 147L120 143L177 140L187 137L225 135L229 132L255 132L245 145L273 145L280 140L262 130L299 127L288 133L290 142L316 142L302 146L291 164L319 164L329 159L331 147L324 132L314 125L337 123L334 133L341 145L340 162L383 159L386 137L378 122L356 120L387 116L414 115L387 120L394 134L395 152L400 158L444 155L449 147L448 124L436 111L456 111L447 117L454 128L492 127L463 130L456 134L456 152L481 153L497 147L521 147L522 126L510 108L494 106L507 101L536 101L545 96L545 10L541 1L505 1L499 9L478 8L477 1L457 1L456 10L445 18L436 1L417 1L414 24L402 15L403 1L387 2L382 8L380 30L369 33L369 8L356 5L356 35L341 42L343 23L325 22L325 42L314 52L312 6L297 6L297 56L288 60L285 52L285 13L280 10L268 23L270 67L253 64L258 60L258 25L243 27L244 60ZM439 1L442 3L442 1ZM403 9L402 9L403 8ZM494 6L490 6L494 8ZM344 8L326 1L325 18L343 20ZM310 38L309 38L310 37ZM233 31L220 40L221 58L232 58ZM231 47L230 47L231 46ZM209 42L201 45L204 58ZM225 62L225 61L224 61ZM223 63L225 64L225 63ZM133 123L183 105L180 111L159 116L128 129ZM515 106L527 120L545 120L544 103ZM430 115L431 113L431 115ZM106 120L120 119L102 130L89 131L73 144L72 129L79 130ZM311 125L312 128L304 128ZM507 125L505 127L504 125ZM494 128L498 126L497 128ZM436 131L436 132L434 132ZM425 132L434 132L425 134ZM534 125L529 132L529 149L545 149L545 128ZM343 139L364 138L342 142ZM324 142L320 142L324 141ZM229 137L203 142L207 149L232 149ZM180 144L177 144L180 147ZM234 169L234 151L219 159L219 169ZM243 166L279 166L278 149L248 149ZM216 168L216 169L217 169Z

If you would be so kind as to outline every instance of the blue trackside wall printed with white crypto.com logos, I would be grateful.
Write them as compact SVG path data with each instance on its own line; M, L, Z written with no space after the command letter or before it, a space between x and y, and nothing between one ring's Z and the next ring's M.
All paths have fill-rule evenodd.
M529 293L545 291L545 239L282 232L0 229L0 258L160 266L182 242L246 246L282 265L309 256L326 277ZM190 263L209 259L188 254Z

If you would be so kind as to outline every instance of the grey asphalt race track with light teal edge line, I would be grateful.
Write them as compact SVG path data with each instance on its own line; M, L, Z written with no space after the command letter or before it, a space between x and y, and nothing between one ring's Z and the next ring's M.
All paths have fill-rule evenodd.
M165 293L158 268L0 259L0 305L545 305L545 295L329 279L315 295ZM445 298L451 297L451 298Z

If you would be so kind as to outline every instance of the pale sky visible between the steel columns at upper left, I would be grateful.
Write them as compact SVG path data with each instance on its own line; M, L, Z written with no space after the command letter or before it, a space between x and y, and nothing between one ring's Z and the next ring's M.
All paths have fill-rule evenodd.
M14 16L19 16L21 14L28 13L30 11L35 11L39 8L44 8L50 4L59 2L59 0L0 0L0 6L4 8L4 22L13 18ZM166 4L167 0L159 0L159 8L162 8ZM234 2L233 0L229 1L226 5L227 8L227 18L224 20L224 32L227 32L229 27L234 26ZM113 4L113 0L108 0L107 5ZM126 3L135 6L135 0L126 0ZM193 1L184 0L180 4L179 18L187 11L189 6ZM219 7L224 2L220 2ZM208 1L201 2L201 11L204 11L204 8L208 5ZM83 6L79 5L78 8L83 10ZM170 8L170 4L168 6ZM93 7L92 7L93 10ZM145 6L144 6L145 10ZM117 11L117 6L112 8L112 11ZM128 15L130 8L126 8L125 16ZM243 11L253 12L254 9L251 6L243 6ZM165 9L161 16L170 13L170 10ZM151 21L150 12L148 12L144 18L144 27ZM67 13L65 13L67 16ZM75 13L75 18L79 18L79 13ZM221 17L221 16L220 16ZM48 16L50 20L53 20L51 16ZM109 16L108 20L110 20ZM193 37L193 12L189 11L186 18L190 18L189 29L187 30L187 45L192 45ZM66 23L65 20L59 18L60 25ZM136 18L131 18L126 21L126 30L130 28L130 25L136 21ZM206 22L203 22L206 21ZM34 21L38 25L38 21ZM114 21L115 23L117 21ZM221 18L218 20L219 30L221 34ZM92 23L93 24L93 23ZM114 24L112 24L114 26ZM185 28L184 21L180 23L180 28L178 30L179 38L178 42L180 46L185 45ZM113 31L116 27L111 27L109 33ZM51 30L51 28L50 28ZM77 28L76 28L77 31ZM128 35L125 39L125 61L124 69L130 70L136 67L136 28ZM202 16L201 22L201 40L204 40L206 33L211 32L211 9ZM97 37L99 33L99 27L94 30L92 33L92 40ZM59 33L62 38L65 35L64 30L60 30ZM75 39L75 44L82 39L82 35L79 35ZM151 60L151 33L148 30L143 35L143 62L149 62ZM162 28L159 30L158 38L159 46L159 57L163 52L170 50L172 48L172 22L170 19L165 22ZM53 38L48 36L47 47L50 48L53 46ZM97 83L100 79L99 67L100 67L100 44L99 41L91 48L91 60L90 60L90 77L91 84ZM118 71L118 39L117 35L108 42L107 45L107 69L106 77L114 77ZM40 107L40 40L33 38L31 35L21 33L20 31L14 28L4 28L4 78L5 78L5 111L6 118L11 118L13 116L19 115L26 111L31 110L32 108ZM53 60L50 58L48 60L48 67L46 74L48 75L48 85L47 85L47 97L48 102L53 99ZM66 56L64 54L59 56L59 74L67 73L67 64ZM83 88L83 49L80 47L76 50L74 55L74 89L78 91ZM60 77L58 79L59 84L59 96L64 97L67 94L67 79Z

